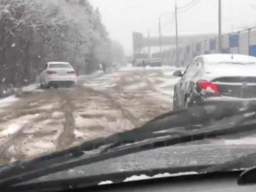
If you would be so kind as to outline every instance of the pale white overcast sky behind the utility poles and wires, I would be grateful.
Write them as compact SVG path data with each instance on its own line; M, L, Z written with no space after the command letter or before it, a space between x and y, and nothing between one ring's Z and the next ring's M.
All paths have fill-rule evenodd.
M158 17L174 11L175 0L89 0L102 14L111 39L119 41L127 55L132 54L132 32L158 36ZM177 0L182 7L193 0ZM223 32L256 27L255 0L222 0ZM162 34L175 33L174 14L161 17ZM179 34L217 33L218 0L201 0L194 7L178 13Z

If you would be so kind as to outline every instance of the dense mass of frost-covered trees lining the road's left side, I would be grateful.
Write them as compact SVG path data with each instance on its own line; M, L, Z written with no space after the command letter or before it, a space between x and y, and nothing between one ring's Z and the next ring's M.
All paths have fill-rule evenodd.
M0 86L33 81L49 60L69 61L86 73L108 42L100 14L87 0L1 0Z

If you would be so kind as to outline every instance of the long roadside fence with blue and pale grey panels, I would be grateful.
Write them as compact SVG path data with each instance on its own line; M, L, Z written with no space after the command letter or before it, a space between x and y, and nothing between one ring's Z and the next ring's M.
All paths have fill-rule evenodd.
M246 29L222 36L222 52L233 54L246 54L256 57L256 28ZM185 67L193 57L201 54L218 52L218 37L192 42L179 46L179 63L176 62L176 49L162 52L165 64ZM155 55L159 55L156 53Z

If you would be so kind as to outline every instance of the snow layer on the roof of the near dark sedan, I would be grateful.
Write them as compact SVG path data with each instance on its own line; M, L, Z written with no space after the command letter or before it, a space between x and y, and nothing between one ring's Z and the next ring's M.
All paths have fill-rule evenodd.
M201 55L205 63L256 63L256 57L241 54Z

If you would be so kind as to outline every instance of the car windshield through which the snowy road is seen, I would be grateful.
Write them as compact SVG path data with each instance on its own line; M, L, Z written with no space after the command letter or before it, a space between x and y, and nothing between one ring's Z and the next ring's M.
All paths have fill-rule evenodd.
M36 179L22 170L44 168L46 181L256 152L255 9L255 0L1 0L0 186L8 174Z

